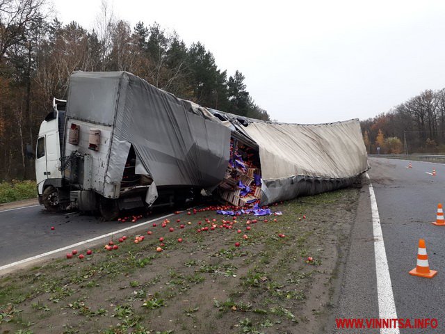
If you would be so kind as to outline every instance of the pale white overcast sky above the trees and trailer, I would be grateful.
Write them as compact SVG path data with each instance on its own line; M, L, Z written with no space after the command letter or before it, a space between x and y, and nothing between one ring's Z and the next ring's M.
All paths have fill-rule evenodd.
M389 111L445 88L445 1L108 0L131 26L158 22L200 41L220 70L245 76L280 122L320 123ZM100 0L54 0L63 23L92 28Z

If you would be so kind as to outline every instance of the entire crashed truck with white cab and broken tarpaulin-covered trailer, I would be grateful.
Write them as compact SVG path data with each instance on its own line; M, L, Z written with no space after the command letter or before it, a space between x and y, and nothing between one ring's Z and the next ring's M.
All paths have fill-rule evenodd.
M74 72L65 112L60 105L42 122L36 149L47 209L113 218L202 189L224 189L238 205L268 204L347 186L367 168L358 120L286 125L241 118L128 72Z

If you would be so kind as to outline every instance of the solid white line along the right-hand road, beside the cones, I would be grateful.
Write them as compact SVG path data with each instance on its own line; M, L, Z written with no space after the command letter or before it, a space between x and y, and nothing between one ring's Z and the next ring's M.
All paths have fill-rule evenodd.
M366 177L369 179L368 173ZM394 294L391 287L391 276L389 276L389 267L387 253L385 251L385 241L383 240L382 227L380 225L380 216L378 214L377 201L373 185L369 182L369 195L371 196L371 211L373 218L374 231L374 253L375 253L375 274L377 275L377 295L378 312L380 319L398 319L396 304L394 303ZM380 328L380 334L398 334L398 328Z

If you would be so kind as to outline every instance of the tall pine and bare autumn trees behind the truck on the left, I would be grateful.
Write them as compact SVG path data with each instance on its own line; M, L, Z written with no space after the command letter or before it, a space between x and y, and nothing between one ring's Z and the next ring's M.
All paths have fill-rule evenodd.
M200 42L186 45L153 23L129 26L106 2L95 29L50 16L45 0L0 0L0 181L34 177L35 147L53 97L65 99L70 74L128 71L202 106L268 120L244 76L229 76Z

